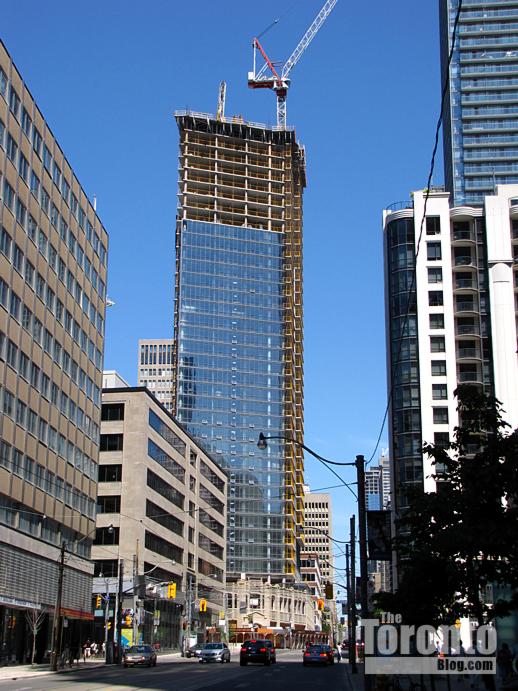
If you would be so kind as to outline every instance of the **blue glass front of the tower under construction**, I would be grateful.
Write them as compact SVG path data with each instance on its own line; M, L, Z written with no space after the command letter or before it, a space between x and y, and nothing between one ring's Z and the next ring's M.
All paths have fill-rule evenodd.
M282 233L184 220L176 415L229 475L228 570L284 571Z

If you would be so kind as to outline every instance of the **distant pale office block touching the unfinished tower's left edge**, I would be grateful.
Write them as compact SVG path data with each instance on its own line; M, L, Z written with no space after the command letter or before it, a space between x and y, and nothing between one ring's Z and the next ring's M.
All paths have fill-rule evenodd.
M138 342L138 386L146 386L170 413L173 410L173 339Z

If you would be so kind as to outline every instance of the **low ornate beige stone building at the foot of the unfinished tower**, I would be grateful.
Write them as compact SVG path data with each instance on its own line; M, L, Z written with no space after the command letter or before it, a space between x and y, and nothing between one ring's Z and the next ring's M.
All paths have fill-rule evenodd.
M271 583L264 579L240 578L227 583L227 617L230 640L242 640L233 631L254 630L262 635L295 637L320 632L322 616L317 598L308 585Z

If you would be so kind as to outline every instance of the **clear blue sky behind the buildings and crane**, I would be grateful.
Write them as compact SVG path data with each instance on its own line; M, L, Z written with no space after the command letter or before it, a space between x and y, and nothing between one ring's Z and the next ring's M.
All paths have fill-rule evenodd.
M110 235L105 367L136 383L139 338L171 337L178 134L173 112L274 124L247 88L251 41L285 60L323 0L3 0L1 38ZM292 72L306 146L305 441L352 461L386 406L382 209L425 186L440 106L436 0L339 0ZM434 183L443 181L442 162ZM387 445L383 433L381 446ZM307 458L312 487L336 484ZM343 477L354 481L354 469ZM353 497L333 490L335 536Z

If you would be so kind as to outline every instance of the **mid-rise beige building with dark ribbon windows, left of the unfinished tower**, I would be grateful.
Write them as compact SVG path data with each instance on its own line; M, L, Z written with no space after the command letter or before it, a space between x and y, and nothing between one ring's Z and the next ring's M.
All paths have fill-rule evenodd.
M203 639L206 627L217 625L224 605L226 491L225 472L148 389L103 390L94 590L105 592L122 565L130 591L124 608L137 610L132 625L123 627L123 642L138 634L177 648L189 630ZM140 604L131 601L134 579L142 583ZM158 584L151 602L144 582ZM176 584L174 599L166 599L160 585L166 583ZM203 599L207 609L200 613Z

